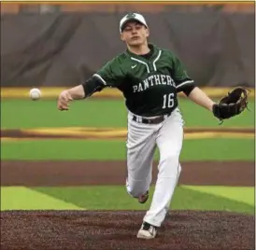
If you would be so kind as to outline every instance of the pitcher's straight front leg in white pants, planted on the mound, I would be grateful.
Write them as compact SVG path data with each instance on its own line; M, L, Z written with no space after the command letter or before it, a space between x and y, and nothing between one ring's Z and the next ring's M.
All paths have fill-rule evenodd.
M151 206L144 217L150 225L160 227L168 211L181 171L179 154L182 141L183 119L176 109L164 121L156 141L160 151L158 176Z

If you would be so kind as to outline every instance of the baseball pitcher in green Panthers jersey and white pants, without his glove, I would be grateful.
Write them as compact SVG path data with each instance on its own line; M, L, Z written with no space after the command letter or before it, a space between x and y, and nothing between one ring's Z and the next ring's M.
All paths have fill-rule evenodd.
M169 49L148 43L149 26L138 13L120 21L121 41L127 49L107 62L86 82L64 90L58 109L68 110L70 101L82 100L107 87L121 90L128 111L127 192L144 203L149 198L152 161L156 146L160 160L152 201L137 238L152 239L164 222L181 171L183 119L178 92L214 112L215 104L195 86L182 62Z

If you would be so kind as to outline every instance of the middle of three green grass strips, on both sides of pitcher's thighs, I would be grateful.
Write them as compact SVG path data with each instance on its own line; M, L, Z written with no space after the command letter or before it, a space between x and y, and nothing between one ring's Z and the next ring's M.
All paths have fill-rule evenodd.
M121 141L18 141L1 143L2 160L125 160ZM155 159L158 159L156 152ZM181 160L254 160L252 139L185 140Z

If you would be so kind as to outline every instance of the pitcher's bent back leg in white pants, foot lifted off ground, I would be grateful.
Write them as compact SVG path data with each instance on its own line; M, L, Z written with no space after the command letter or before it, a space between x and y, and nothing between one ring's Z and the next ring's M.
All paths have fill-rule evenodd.
M135 198L144 195L152 180L152 161L155 151L156 126L138 123L128 116L127 192Z

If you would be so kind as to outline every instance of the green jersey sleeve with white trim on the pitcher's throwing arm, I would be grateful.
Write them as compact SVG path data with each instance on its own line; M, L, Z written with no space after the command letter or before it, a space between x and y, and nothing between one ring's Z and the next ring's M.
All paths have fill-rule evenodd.
M125 74L117 58L107 62L93 76L98 77L106 87L118 88L123 82Z

